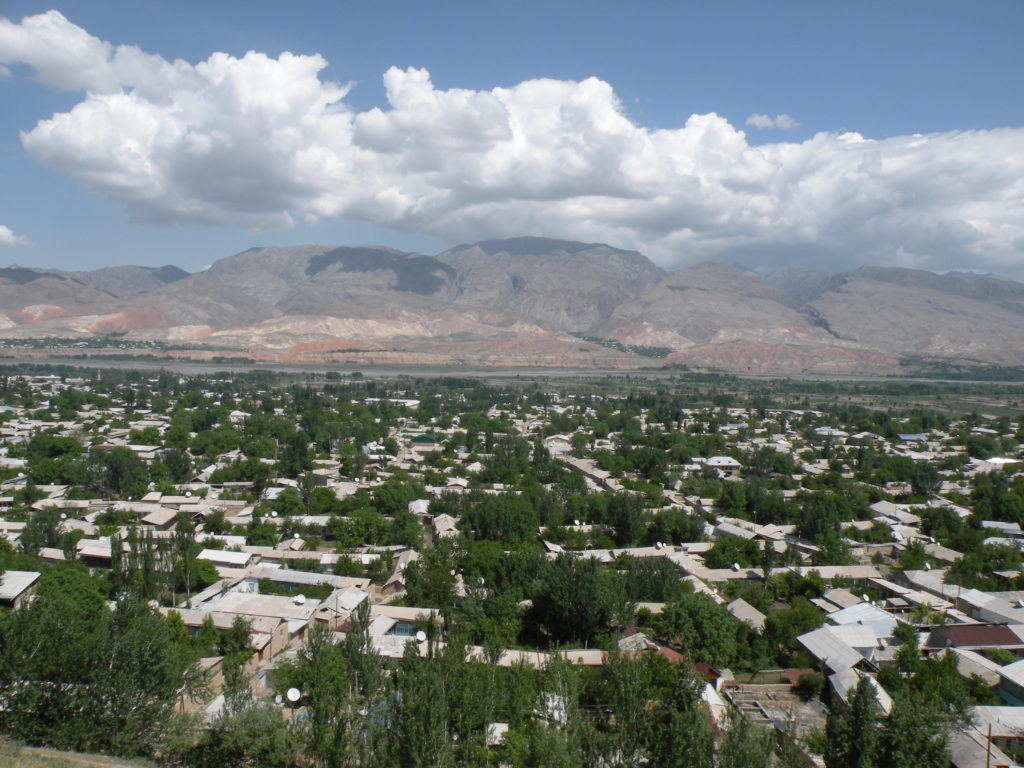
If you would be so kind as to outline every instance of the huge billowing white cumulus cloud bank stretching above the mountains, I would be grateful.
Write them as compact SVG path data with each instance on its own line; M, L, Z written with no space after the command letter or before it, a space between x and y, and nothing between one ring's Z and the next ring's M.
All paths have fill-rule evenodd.
M357 112L347 85L321 78L318 55L168 61L56 11L0 19L0 63L13 62L84 92L22 134L26 152L154 224L339 218L449 242L545 234L666 265L1008 271L1024 247L1024 129L752 145L715 114L638 125L595 78L441 90L425 70L394 68L387 106Z

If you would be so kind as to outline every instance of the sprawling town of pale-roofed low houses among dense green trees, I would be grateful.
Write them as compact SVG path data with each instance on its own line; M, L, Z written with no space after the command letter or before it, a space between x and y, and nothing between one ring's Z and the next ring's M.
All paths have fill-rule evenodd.
M188 766L1024 758L1019 386L0 376L20 741Z

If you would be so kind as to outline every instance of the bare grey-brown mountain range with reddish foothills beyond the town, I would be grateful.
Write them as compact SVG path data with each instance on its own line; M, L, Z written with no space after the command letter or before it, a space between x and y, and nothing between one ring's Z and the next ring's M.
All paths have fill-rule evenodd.
M436 256L270 247L196 273L2 268L0 338L314 364L889 375L1024 366L1024 284L871 266L666 272L546 238Z

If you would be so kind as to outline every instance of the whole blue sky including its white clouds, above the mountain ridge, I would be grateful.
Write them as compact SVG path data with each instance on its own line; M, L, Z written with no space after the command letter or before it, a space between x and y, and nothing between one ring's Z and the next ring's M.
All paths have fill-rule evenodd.
M522 234L1024 280L1024 3L0 0L0 264Z

